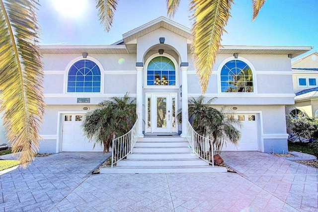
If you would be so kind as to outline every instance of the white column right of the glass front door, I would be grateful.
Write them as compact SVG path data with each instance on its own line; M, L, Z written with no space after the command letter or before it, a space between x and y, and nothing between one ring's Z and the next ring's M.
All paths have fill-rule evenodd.
M188 135L186 122L188 120L188 63L181 63L181 73L182 73L182 134L181 137Z

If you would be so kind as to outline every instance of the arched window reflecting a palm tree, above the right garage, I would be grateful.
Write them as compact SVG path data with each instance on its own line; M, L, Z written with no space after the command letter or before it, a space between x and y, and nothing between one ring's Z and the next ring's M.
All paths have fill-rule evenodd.
M254 92L253 73L243 61L232 60L221 70L222 92Z

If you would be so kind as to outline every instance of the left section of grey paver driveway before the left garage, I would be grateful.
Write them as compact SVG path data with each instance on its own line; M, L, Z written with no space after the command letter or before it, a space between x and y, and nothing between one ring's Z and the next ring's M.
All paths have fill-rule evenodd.
M49 211L105 158L101 152L62 152L0 175L0 212Z

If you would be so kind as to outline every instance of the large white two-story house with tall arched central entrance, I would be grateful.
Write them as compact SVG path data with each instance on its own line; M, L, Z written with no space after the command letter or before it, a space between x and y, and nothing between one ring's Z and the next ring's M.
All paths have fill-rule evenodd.
M159 17L112 45L40 46L47 105L40 152L92 150L83 116L109 97L137 100L138 135L187 134L188 99L201 95L190 51L190 29ZM287 152L285 105L294 104L291 57L311 47L224 46L205 96L236 113L239 146L223 150ZM176 122L182 108L183 124ZM159 109L161 110L158 113Z

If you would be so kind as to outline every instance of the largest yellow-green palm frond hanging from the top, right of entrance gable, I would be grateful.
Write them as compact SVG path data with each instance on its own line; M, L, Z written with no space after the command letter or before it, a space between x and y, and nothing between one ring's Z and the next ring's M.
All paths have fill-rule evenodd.
M190 10L194 53L194 65L205 93L213 65L221 45L221 36L230 17L233 0L191 0Z

